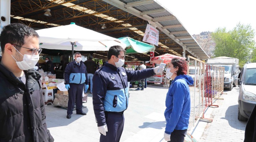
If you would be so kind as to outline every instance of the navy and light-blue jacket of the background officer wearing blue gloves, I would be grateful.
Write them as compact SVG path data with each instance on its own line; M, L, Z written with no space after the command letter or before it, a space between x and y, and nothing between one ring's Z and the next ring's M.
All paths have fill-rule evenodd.
M65 68L65 84L76 83L76 84L89 84L86 66L83 61L80 61L80 66L76 61L69 62Z

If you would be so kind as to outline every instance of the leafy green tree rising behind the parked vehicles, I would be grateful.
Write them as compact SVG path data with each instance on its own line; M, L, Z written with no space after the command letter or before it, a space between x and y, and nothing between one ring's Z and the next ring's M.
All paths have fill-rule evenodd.
M238 23L231 31L226 31L226 28L216 29L212 33L216 43L214 56L238 58L239 65L243 66L247 61L250 61L252 51L255 49L254 34L255 31L250 24Z

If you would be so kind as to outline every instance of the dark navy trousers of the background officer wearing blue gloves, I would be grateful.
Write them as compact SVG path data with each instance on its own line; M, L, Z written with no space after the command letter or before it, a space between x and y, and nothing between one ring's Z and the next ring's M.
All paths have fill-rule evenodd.
M70 83L69 101L68 101L68 111L67 114L73 114L73 110L76 103L76 113L81 113L82 111L82 93L84 91L84 84Z

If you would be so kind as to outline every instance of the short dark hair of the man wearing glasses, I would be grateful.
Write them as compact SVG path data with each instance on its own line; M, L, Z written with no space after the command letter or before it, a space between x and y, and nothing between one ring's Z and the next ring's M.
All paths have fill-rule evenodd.
M26 26L25 24L11 23L7 26L4 26L0 35L0 46L2 52L4 52L5 44L7 43L18 45L15 46L15 48L20 51L21 47L19 46L25 44L24 38L30 36L39 38L38 33L31 27Z

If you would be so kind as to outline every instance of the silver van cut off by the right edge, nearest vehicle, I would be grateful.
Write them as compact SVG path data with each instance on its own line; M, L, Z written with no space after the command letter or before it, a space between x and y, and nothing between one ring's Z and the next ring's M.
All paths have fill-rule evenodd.
M246 121L256 104L256 63L245 64L239 76L238 120Z

